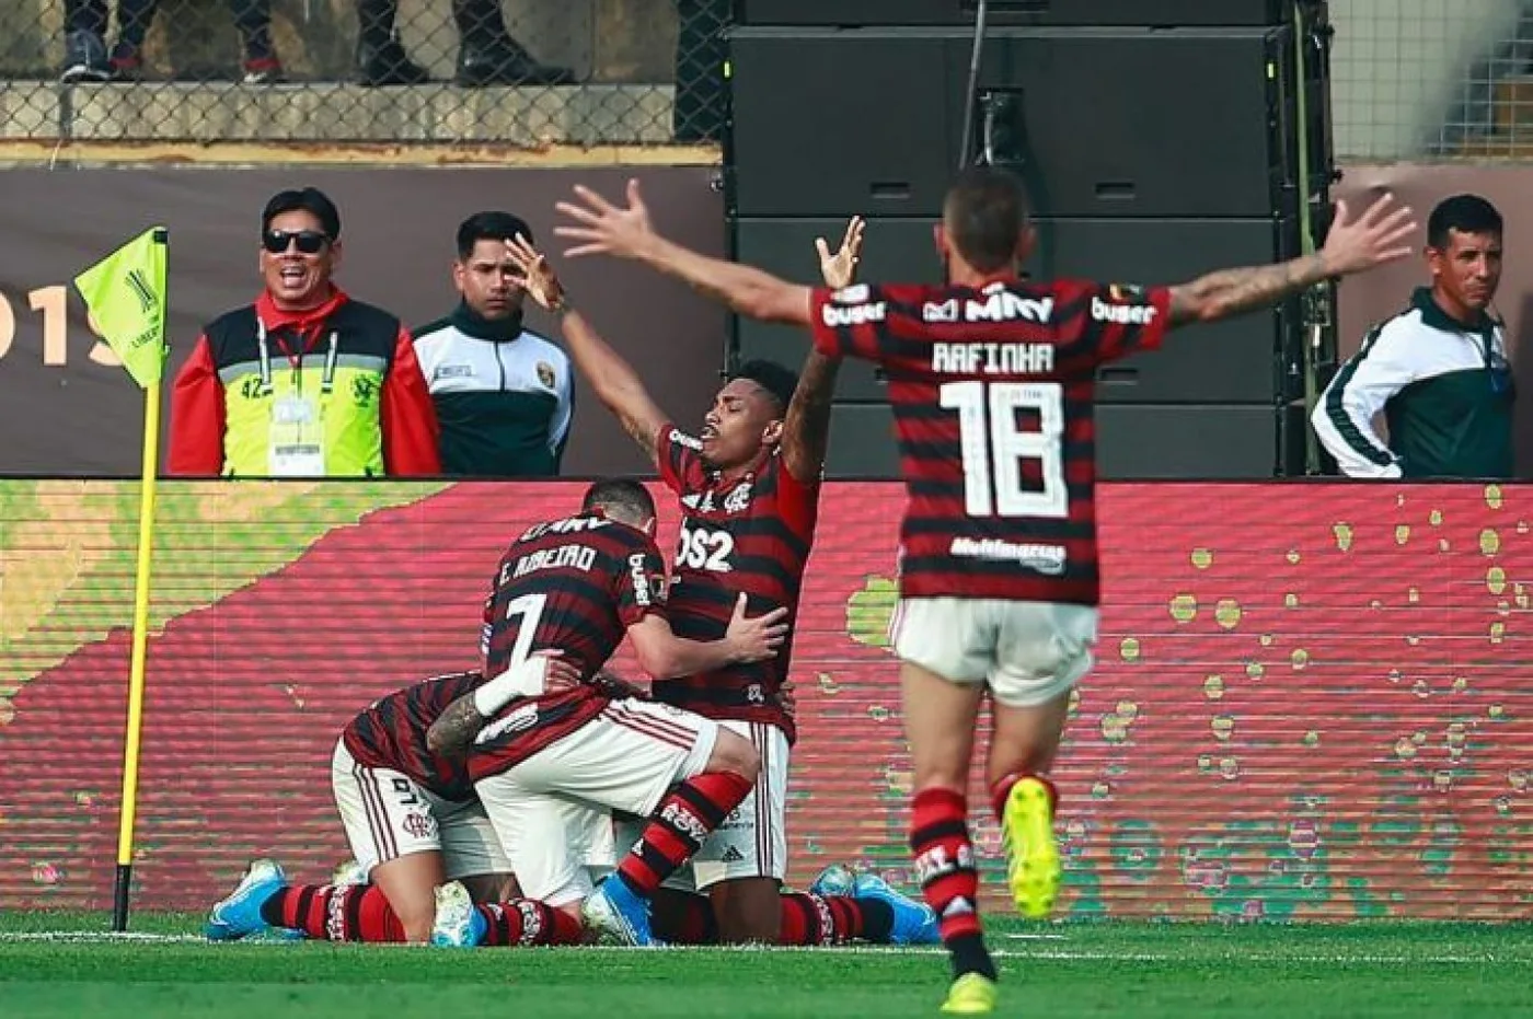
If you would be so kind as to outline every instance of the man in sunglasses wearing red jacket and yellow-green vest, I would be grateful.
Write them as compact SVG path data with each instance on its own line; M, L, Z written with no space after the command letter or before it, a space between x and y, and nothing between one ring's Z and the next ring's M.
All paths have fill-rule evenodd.
M437 475L437 415L409 333L333 282L340 213L311 187L261 215L254 303L213 320L170 397L170 473Z

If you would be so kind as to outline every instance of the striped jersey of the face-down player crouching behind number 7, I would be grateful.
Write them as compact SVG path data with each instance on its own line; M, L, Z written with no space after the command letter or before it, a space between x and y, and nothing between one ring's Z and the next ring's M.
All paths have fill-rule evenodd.
M426 729L449 703L481 682L478 673L425 679L374 700L342 729L340 739L359 765L402 772L443 800L468 803L474 798L474 783L464 762L432 754Z

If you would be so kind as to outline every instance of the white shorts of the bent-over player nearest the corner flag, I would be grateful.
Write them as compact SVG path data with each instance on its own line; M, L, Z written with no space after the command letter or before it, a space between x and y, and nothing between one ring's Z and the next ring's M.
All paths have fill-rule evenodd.
M440 852L449 878L510 873L510 857L474 800L443 800L409 775L359 765L343 740L330 763L330 786L363 873L417 852Z

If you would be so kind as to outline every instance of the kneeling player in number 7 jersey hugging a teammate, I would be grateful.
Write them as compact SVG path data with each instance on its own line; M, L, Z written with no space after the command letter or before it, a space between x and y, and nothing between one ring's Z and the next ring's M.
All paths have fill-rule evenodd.
M745 619L745 595L721 639L671 636L655 516L642 484L601 481L581 515L538 524L514 542L486 608L484 673L560 650L593 676L624 634L658 679L774 657L788 611ZM583 909L587 924L621 941L652 944L648 898L750 794L760 755L745 737L670 705L615 699L589 683L526 693L504 711L478 691L463 697L428 740L442 752L472 740L475 791L524 893ZM615 878L592 895L576 860L607 809L648 821ZM475 932L464 929L468 944Z

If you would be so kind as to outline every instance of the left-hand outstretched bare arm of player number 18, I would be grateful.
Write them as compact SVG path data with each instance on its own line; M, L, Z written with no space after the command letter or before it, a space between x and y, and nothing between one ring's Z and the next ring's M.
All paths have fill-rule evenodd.
M570 222L555 227L553 233L579 242L566 256L613 254L635 259L687 282L747 319L809 325L808 287L789 283L750 265L711 259L655 233L638 181L629 181L625 208L613 205L589 187L576 185L575 198L578 201L555 205Z

